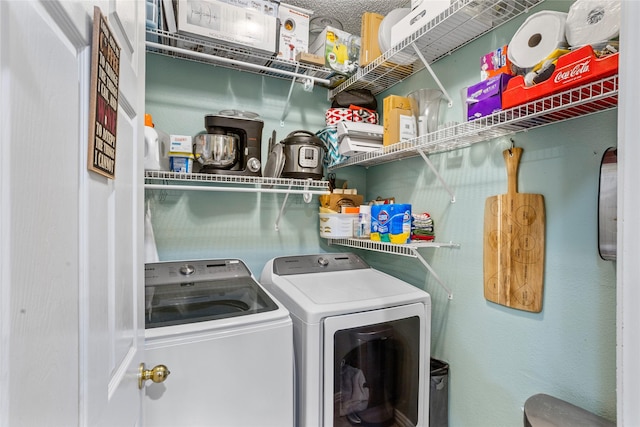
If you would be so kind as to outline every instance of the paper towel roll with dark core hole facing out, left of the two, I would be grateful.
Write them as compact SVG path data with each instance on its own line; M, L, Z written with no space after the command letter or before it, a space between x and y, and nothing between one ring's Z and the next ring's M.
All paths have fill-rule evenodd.
M511 63L530 71L556 49L567 47L566 21L566 13L550 10L529 16L509 42L507 56Z

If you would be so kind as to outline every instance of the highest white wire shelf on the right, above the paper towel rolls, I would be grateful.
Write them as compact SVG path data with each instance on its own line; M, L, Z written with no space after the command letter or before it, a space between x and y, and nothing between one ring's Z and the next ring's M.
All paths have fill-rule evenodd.
M330 90L329 98L347 89L368 89L377 95L425 68L412 45L431 64L543 1L454 1L447 10ZM413 58L413 63L395 64L394 58L403 64Z

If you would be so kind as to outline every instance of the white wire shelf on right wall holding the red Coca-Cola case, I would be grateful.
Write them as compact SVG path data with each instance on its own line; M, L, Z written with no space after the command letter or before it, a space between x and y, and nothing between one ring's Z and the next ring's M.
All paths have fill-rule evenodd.
M439 129L427 135L349 157L329 170L346 166L375 166L424 154L468 147L476 142L583 117L618 106L618 76L607 77L559 92L490 116Z

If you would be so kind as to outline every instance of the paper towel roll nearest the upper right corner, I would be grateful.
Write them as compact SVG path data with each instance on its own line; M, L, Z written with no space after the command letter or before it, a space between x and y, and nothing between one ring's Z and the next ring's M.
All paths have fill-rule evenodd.
M569 46L580 47L615 39L620 34L621 2L576 0L567 14Z

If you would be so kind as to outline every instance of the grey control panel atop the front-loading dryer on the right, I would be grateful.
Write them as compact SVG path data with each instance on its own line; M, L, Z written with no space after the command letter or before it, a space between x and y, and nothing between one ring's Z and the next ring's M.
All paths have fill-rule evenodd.
M353 253L332 253L280 257L273 260L273 273L278 276L312 274L327 271L347 271L370 268Z

